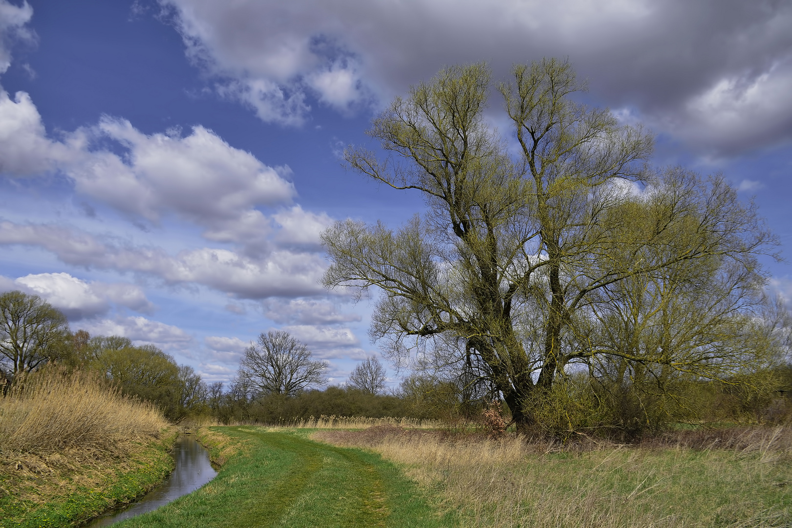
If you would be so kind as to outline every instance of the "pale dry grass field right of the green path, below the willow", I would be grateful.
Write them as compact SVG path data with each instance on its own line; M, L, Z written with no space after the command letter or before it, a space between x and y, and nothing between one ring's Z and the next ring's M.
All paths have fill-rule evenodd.
M464 526L792 526L789 429L684 433L640 446L397 427L313 438L397 462L442 507L459 509Z

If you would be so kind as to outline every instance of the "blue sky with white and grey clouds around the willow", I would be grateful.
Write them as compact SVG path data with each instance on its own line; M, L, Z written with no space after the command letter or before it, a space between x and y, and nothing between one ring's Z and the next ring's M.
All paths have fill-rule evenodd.
M288 331L344 383L375 299L322 288L319 234L424 209L344 147L445 65L543 57L652 130L653 165L724 174L790 258L790 0L0 0L0 291L208 382ZM495 97L487 119L511 139Z

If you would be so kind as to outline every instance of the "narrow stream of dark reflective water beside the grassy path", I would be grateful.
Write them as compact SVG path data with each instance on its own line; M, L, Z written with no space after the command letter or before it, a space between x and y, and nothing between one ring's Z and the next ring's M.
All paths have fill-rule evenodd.
M148 492L143 499L131 504L127 509L112 511L86 526L88 528L110 526L113 522L123 521L125 518L155 510L178 499L181 495L194 492L217 474L209 463L208 451L192 436L179 435L176 446L173 447L173 458L176 460L176 469L173 469L168 480Z

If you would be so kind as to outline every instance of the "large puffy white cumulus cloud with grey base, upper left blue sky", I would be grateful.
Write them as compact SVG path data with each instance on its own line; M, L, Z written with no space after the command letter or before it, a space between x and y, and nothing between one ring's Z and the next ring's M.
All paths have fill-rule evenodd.
M78 192L151 221L170 211L196 224L236 221L255 205L288 202L295 194L279 170L201 126L186 137L147 136L129 121L105 117L87 133L115 140L128 155L93 151L70 166Z

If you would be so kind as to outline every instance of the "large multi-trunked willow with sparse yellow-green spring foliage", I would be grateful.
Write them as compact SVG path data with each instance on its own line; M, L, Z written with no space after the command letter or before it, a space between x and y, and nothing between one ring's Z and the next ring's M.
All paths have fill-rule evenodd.
M518 429L574 363L619 358L703 377L739 368L744 355L729 339L616 346L615 327L604 330L642 285L697 291L701 277L729 283L725 273L740 280L717 295L752 297L756 254L772 242L754 210L721 178L653 174L652 136L573 101L583 86L569 63L516 66L499 86L517 155L485 123L491 88L483 64L448 67L373 121L368 134L390 156L345 152L354 170L417 189L428 211L396 231L352 220L329 228L325 284L379 289L372 336L394 358L431 350L435 362L466 365L502 394ZM750 304L728 299L718 306Z

